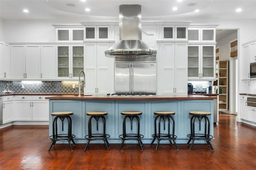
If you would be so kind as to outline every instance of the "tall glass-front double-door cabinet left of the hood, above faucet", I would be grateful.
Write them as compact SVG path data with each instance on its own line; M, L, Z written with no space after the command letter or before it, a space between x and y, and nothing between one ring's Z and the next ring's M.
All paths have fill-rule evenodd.
M78 79L84 71L84 44L57 45L56 67L60 79Z

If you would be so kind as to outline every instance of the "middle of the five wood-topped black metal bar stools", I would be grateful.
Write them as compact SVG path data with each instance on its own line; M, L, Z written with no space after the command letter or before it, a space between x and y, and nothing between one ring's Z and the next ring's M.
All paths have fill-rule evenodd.
M125 115L123 120L123 134L119 135L119 138L122 138L122 143L119 147L119 150L121 150L122 145L124 144L125 140L138 140L138 143L140 145L140 149L143 151L143 143L141 141L141 138L144 137L144 135L140 134L140 118L138 115L142 115L142 112L140 111L122 111L121 115ZM137 119L138 122L138 131L137 133L129 133L126 134L126 119L129 118L131 121L131 130L132 130L132 121L134 118Z

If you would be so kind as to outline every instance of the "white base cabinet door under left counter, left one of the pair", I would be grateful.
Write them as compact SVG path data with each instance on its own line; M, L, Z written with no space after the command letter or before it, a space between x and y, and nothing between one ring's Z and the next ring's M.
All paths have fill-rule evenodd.
M32 102L15 101L15 121L32 121Z

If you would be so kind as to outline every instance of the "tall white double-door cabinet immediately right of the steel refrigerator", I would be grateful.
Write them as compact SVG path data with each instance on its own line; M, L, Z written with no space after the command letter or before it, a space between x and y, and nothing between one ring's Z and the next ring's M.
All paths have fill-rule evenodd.
M187 43L161 42L158 49L158 94L187 94Z

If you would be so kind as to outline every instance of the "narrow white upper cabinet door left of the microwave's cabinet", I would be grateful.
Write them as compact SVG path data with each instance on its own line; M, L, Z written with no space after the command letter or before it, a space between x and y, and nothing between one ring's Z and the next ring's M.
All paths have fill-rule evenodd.
M243 46L242 62L242 79L250 78L250 45Z

